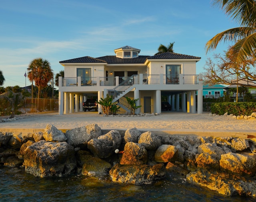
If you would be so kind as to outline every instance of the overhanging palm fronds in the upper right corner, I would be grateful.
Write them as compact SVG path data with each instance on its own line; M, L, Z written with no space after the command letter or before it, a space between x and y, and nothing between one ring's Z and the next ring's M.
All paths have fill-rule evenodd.
M234 42L236 60L241 61L255 55L256 49L256 1L255 0L213 0L213 6L220 6L228 16L241 27L232 28L216 34L206 43L206 53L216 49L221 41Z

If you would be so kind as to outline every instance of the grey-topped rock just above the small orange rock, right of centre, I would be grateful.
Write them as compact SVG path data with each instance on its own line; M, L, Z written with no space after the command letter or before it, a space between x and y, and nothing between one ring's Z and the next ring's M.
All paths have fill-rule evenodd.
M213 158L216 158L217 160L220 160L221 154L225 154L222 148L218 147L216 144L211 143L205 143L198 147L198 154L204 152L209 153Z

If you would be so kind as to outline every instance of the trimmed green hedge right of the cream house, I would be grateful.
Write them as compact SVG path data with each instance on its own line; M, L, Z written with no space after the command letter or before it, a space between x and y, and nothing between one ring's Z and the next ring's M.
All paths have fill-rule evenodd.
M223 102L212 103L211 112L213 114L224 115L224 113L233 115L251 115L256 112L256 103L254 102Z

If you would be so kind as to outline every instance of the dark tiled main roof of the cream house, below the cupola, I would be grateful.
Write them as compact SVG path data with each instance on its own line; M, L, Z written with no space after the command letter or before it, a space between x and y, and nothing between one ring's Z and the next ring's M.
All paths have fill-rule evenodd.
M108 64L139 64L145 63L147 59L201 59L201 57L195 57L191 55L183 55L179 53L161 53L154 56L139 55L135 58L119 58L116 55L106 55L102 57L78 57L74 59L68 59L60 61L60 63L108 63Z

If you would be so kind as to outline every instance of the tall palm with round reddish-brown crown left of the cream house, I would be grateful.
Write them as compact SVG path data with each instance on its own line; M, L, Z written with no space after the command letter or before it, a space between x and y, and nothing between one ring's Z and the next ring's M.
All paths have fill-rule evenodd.
M48 82L53 77L53 72L50 66L50 62L41 57L33 59L28 65L28 79L35 81L35 85L38 87L38 99L41 97L41 91L43 87L46 87Z

